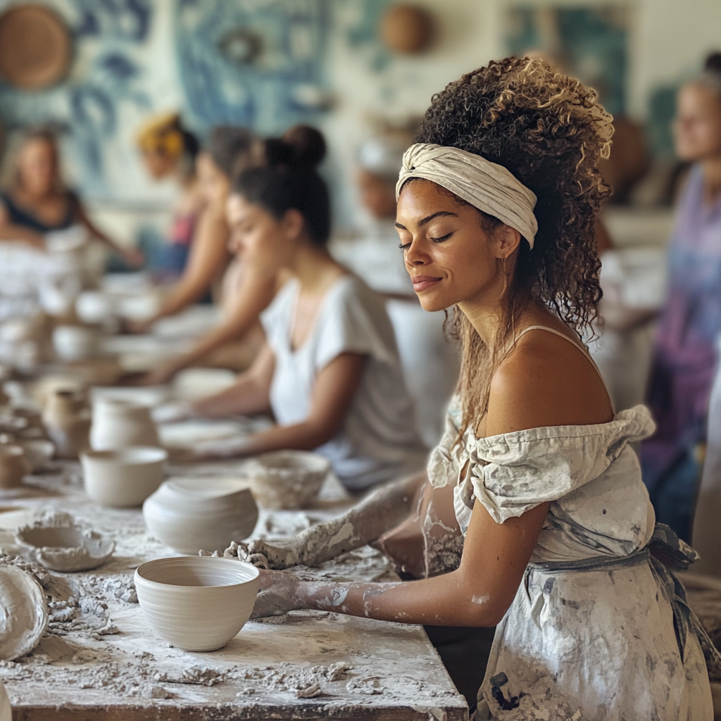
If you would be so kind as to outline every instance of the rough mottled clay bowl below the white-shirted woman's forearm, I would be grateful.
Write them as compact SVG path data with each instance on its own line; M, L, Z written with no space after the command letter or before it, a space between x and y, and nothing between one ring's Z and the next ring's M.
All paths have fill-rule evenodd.
M309 451L273 451L244 466L262 508L303 508L318 495L330 470L323 456Z

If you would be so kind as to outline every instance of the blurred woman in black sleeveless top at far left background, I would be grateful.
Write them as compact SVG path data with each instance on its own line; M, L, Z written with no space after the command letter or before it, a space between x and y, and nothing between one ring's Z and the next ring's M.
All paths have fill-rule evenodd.
M45 251L45 236L81 225L90 236L105 243L123 260L137 267L143 256L121 248L88 218L80 198L64 185L54 133L25 132L14 157L8 190L0 193L0 241L21 241Z

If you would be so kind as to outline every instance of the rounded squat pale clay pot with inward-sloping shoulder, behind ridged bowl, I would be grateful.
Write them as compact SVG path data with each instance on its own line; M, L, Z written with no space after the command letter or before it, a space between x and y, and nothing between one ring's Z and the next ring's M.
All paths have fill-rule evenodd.
M180 553L197 554L246 539L258 508L247 480L176 478L143 503L143 518L156 539Z

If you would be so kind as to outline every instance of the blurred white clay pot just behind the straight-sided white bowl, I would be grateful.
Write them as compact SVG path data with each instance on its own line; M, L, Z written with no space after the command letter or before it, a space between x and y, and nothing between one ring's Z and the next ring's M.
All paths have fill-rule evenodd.
M148 407L102 397L93 403L90 447L94 451L159 445L158 429Z

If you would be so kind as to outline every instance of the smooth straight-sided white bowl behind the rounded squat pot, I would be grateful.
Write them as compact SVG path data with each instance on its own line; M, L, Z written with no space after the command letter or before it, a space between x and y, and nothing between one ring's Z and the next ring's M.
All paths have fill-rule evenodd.
M167 451L151 446L86 451L81 454L85 492L102 505L141 505L162 483L167 458Z

